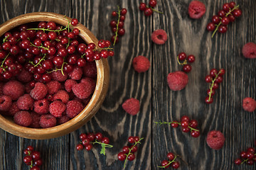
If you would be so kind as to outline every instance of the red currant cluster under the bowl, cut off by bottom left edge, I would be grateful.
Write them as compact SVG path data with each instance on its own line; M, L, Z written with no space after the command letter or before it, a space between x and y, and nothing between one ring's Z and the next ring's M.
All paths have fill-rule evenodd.
M23 153L26 154L26 156L23 157L23 162L30 166L30 170L39 170L39 166L43 164L40 152L34 151L32 146L28 146Z

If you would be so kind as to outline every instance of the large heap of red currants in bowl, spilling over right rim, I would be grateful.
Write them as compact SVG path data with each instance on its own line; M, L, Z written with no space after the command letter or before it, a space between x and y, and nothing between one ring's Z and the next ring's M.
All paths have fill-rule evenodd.
M65 27L42 21L5 33L0 45L0 80L10 79L24 68L36 81L47 83L51 80L50 72L70 73L75 65L84 67L86 62L114 55L110 41L100 41L100 48L94 43L86 45L78 36L80 30L74 28L77 24L76 18Z

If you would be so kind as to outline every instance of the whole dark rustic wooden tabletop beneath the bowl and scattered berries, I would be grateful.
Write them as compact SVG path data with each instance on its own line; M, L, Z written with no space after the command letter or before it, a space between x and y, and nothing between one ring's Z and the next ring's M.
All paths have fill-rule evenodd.
M147 0L145 0L148 2ZM145 17L139 11L137 0L1 0L0 23L10 18L35 11L49 11L78 18L96 37L110 39L111 12L117 5L127 8L124 23L125 35L114 47L110 63L110 89L100 111L79 130L51 140L28 140L0 130L0 169L28 169L23 161L23 149L33 145L41 152L41 169L122 169L124 162L117 154L127 145L130 135L144 137L134 162L127 169L158 169L168 152L181 155L179 169L256 169L256 164L236 166L233 163L240 152L253 147L256 139L256 115L242 110L242 98L256 99L256 60L242 57L242 46L256 42L256 1L238 0L242 16L232 23L228 32L210 38L206 24L223 5L221 0L201 0L206 4L206 14L198 20L188 17L188 0L159 0L154 13ZM225 1L226 2L226 1ZM166 30L169 39L164 45L155 45L150 35L156 29ZM166 82L169 72L181 70L176 55L186 52L196 56L189 82L182 91L171 91ZM134 72L132 58L144 55L151 61L148 72ZM204 103L208 84L204 77L210 69L224 68L226 74L210 105ZM127 98L141 102L138 115L131 116L122 110ZM179 120L182 115L199 122L201 135L191 135L168 125L155 125L154 121ZM225 135L223 149L215 151L206 145L210 130L220 130ZM100 148L78 152L81 132L102 132L110 137L112 149L106 156ZM254 146L255 147L255 146ZM171 168L170 168L171 169Z

